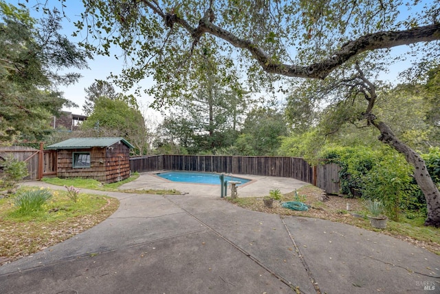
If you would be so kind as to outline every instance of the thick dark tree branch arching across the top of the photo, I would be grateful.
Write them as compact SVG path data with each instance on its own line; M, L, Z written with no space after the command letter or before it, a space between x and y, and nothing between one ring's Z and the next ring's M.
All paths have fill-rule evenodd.
M148 8L151 8L153 12L159 14L159 16L166 21L166 25L181 25L181 27L188 31L192 38L195 39L195 43L197 43L203 34L212 34L227 41L236 48L248 50L253 58L263 67L265 72L298 78L324 79L330 72L349 61L353 56L369 50L440 40L440 23L420 26L409 30L375 32L373 34L360 36L358 39L345 43L327 59L307 66L298 66L274 61L267 52L255 43L247 39L241 39L228 30L214 25L214 23L212 23L214 12L211 8L206 10L199 21L199 25L197 28L194 28L186 20L177 17L176 14L164 14L164 12L158 8L157 3L147 0L142 0L142 3ZM170 24L170 21L172 24Z

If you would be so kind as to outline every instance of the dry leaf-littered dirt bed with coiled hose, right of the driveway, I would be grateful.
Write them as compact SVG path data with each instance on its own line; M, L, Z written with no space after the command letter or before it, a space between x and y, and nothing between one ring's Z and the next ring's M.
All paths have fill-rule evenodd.
M331 220L333 222L343 222L346 224L355 225L371 231L377 231L386 235L392 235L395 238L404 240L415 246L428 249L440 255L440 244L432 241L421 241L415 238L410 238L407 235L400 234L393 229L374 229L369 224L364 216L356 211L364 210L362 200L359 198L344 198L343 196L329 196L321 189L308 185L298 191L300 201L307 204L308 211L294 211L292 209L285 209L281 207L281 202L295 201L294 193L283 195L280 201L274 201L273 207L268 208L263 204L263 198L240 198L233 200L227 198L228 201L233 202L245 209L254 211L261 211L265 213L276 213L281 216L307 216L311 218L322 218ZM350 210L347 211L347 203Z

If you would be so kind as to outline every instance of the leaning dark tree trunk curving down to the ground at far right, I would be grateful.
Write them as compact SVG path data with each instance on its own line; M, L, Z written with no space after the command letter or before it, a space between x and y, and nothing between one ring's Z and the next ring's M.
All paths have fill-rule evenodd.
M380 130L378 139L404 154L406 161L414 167L414 178L426 199L428 217L425 220L425 225L440 227L440 192L432 181L425 161L416 151L401 142L388 125L383 122L376 122L375 120L370 120L370 122Z

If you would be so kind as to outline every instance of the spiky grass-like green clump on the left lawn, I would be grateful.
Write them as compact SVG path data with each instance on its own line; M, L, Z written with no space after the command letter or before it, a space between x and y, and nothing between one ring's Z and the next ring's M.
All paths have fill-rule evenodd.
M23 215L30 214L34 211L42 211L43 204L52 198L52 192L49 189L27 190L21 191L12 201L17 211Z

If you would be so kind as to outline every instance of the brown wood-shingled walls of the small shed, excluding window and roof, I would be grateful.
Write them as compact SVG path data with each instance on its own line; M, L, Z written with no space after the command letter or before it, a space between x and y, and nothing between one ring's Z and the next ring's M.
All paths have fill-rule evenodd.
M90 152L90 167L73 168L74 152ZM130 176L130 149L115 143L108 148L58 149L58 177L93 178L100 182L117 182Z

